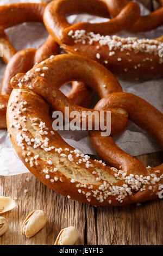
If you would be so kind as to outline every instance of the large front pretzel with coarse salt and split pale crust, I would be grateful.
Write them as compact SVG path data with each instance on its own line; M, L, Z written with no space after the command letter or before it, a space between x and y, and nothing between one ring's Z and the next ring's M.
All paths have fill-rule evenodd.
M48 69L43 69L45 66ZM40 73L36 72L38 68ZM7 125L20 159L43 184L83 203L124 205L157 198L163 181L163 164L146 168L118 150L111 137L103 137L101 145L102 139L97 134L98 143L92 131L91 140L96 150L99 147L104 156L107 152L107 162L114 163L118 169L106 167L102 161L92 161L89 156L72 148L53 131L48 104L62 113L65 107L70 108L70 113L74 110L79 113L92 111L74 105L58 90L62 84L72 80L85 82L103 97L95 109L97 112L101 109L111 111L111 134L117 134L127 126L129 114L135 123L155 135L163 145L163 115L156 108L140 97L123 93L114 75L104 66L85 57L62 54L45 60L44 64L35 66L27 74L17 74L11 80L14 89L7 109ZM103 154L102 149L106 150Z

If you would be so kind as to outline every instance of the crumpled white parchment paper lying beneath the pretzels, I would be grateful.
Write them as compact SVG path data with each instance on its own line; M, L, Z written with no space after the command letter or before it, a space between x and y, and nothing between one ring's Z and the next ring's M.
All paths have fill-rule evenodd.
M46 2L40 0L0 0L0 5L15 2ZM150 8L149 1L141 0L146 7ZM141 12L143 15L148 14L148 9L141 4ZM90 15L72 15L68 17L68 21L76 23L78 21L90 21L101 22L106 19L93 17ZM9 40L12 42L17 51L22 48L35 47L38 48L47 38L47 31L41 23L23 23L16 27L7 29ZM137 36L138 38L156 38L163 34L163 26L155 29L151 32L131 34L128 32L121 32L118 35ZM5 64L0 60L0 82L2 81ZM163 113L163 79L158 78L154 80L133 80L133 79L120 79L121 86L124 92L133 93L138 95L158 108ZM70 92L70 86L64 86L61 88L62 92L66 95ZM95 97L96 102L97 97ZM74 148L78 148L83 151L84 154L96 154L95 150L87 136L87 132L60 132L60 135L65 141L71 144ZM153 138L148 136L145 131L142 131L135 124L129 122L128 128L121 136L115 138L115 142L123 150L127 151L130 155L141 155L147 153L153 153L160 150L158 143ZM9 137L6 130L0 130L0 175L13 175L26 173L28 169L24 166L20 159L18 159L15 150L12 148Z

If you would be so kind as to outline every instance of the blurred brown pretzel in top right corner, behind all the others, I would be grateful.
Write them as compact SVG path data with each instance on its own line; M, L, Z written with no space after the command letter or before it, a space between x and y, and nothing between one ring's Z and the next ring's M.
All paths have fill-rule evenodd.
M160 2L161 8L146 16L140 16L129 30L132 32L145 32L161 26L163 24L163 2L162 0L158 0L158 2ZM116 17L128 3L128 0L106 0L109 13L112 17Z

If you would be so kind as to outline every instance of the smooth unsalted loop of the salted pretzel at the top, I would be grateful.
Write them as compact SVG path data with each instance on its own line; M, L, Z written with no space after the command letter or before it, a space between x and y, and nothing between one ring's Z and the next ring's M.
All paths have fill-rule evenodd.
M49 33L53 35L59 44L73 44L70 31L85 30L96 34L110 35L129 28L140 16L140 8L136 3L130 2L119 15L108 22L89 23L79 22L71 25L66 16L77 13L93 14L109 18L106 4L101 0L57 0L48 4L43 20ZM55 27L55 28L54 28Z

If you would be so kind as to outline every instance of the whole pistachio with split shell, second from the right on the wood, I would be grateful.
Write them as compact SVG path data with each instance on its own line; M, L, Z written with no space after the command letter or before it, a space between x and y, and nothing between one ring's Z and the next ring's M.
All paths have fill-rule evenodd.
M27 237L34 236L45 226L46 222L47 214L45 211L32 211L22 224L22 234L26 235Z

